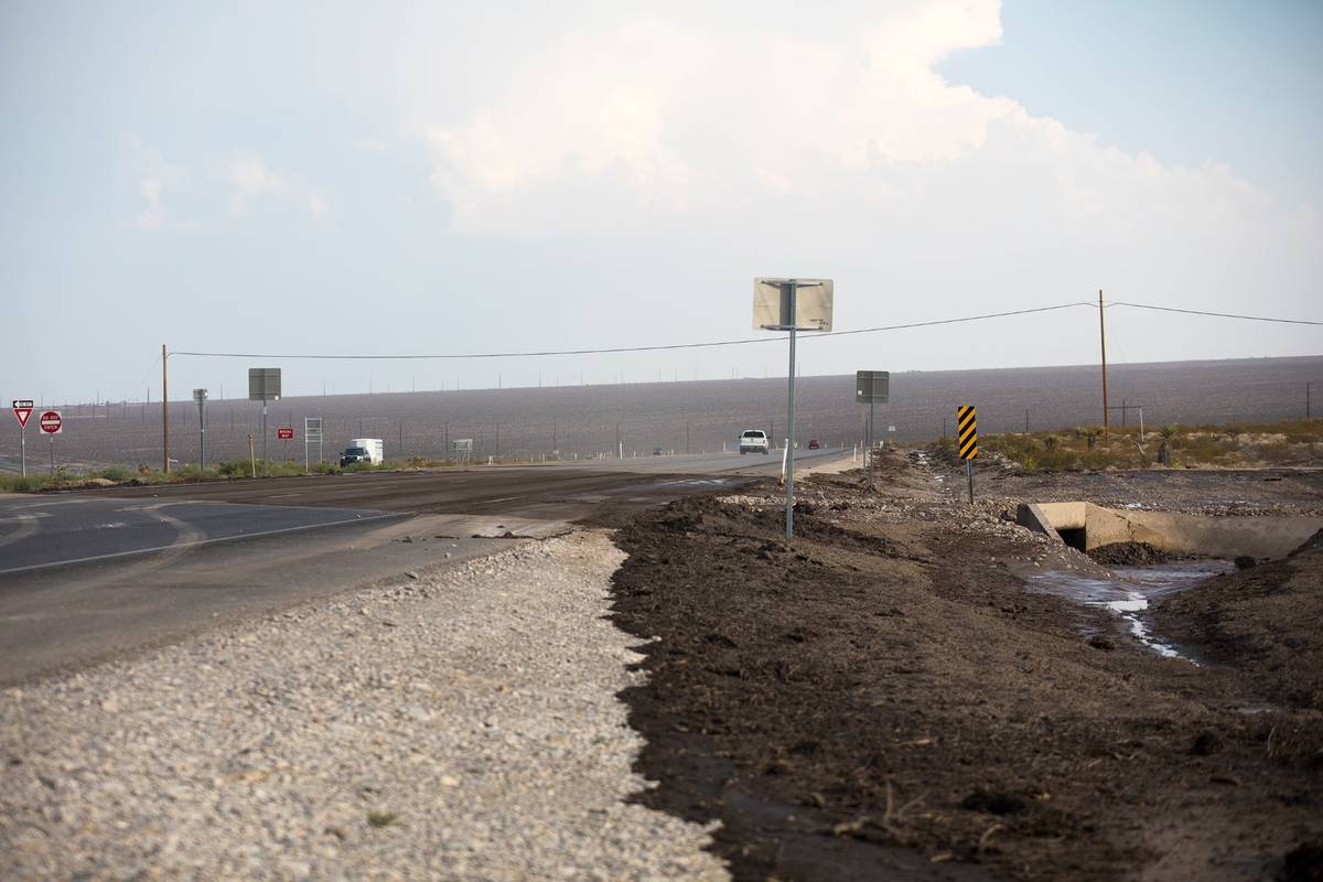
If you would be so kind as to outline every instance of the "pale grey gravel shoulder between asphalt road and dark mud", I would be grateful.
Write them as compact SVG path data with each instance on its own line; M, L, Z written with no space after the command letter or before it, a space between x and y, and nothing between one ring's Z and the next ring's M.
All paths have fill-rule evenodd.
M725 879L630 803L602 532L0 696L0 878Z

